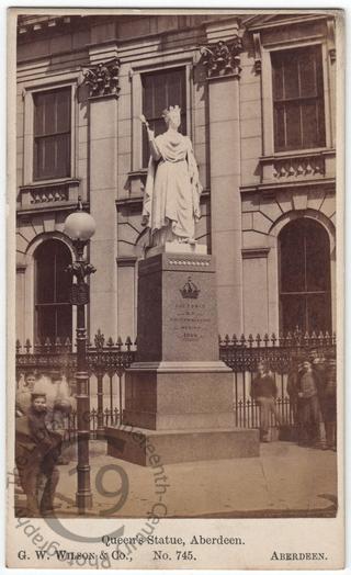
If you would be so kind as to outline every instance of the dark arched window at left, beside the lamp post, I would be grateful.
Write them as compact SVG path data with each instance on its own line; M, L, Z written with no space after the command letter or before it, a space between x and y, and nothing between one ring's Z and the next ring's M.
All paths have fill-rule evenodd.
M72 337L71 278L65 270L71 263L68 247L57 239L38 246L35 258L35 337Z

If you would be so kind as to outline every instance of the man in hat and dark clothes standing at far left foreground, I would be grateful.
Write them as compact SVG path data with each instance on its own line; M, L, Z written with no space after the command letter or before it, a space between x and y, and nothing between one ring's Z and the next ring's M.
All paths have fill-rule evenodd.
M46 394L33 392L27 415L15 420L15 463L30 517L41 517L53 510L59 478L57 437L46 426Z

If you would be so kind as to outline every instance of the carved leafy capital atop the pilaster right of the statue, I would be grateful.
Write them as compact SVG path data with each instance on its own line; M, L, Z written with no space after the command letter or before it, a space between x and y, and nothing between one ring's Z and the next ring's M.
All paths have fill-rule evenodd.
M238 35L229 41L219 40L217 43L201 46L202 63L207 70L207 78L235 76L240 78L240 53L242 38Z

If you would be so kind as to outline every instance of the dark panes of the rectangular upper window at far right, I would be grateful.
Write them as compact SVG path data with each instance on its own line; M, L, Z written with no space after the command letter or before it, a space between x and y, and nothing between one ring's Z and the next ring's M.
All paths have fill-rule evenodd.
M274 149L326 145L320 46L273 52Z

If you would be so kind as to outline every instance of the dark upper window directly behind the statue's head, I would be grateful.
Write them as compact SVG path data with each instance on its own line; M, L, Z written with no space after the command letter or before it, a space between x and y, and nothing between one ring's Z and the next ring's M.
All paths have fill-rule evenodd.
M143 114L149 122L150 128L158 136L165 132L162 112L170 105L181 108L180 132L186 134L186 84L185 68L172 68L166 71L144 74L143 82ZM143 131L143 167L146 168L149 159L148 138Z

